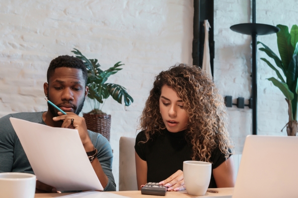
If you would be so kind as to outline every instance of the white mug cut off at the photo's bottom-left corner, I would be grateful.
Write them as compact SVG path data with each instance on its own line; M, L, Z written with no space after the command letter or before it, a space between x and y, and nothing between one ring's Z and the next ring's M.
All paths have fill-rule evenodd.
M0 198L34 198L36 176L29 173L0 173Z

